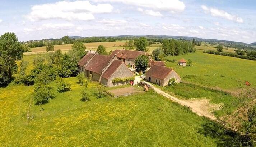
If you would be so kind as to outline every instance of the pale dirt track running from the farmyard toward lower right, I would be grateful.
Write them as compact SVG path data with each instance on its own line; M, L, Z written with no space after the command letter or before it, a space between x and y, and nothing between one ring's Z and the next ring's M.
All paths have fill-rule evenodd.
M147 84L149 85L152 85L151 83L149 82L146 82ZM204 116L204 117L207 117L209 118L210 120L216 120L215 116L207 111L203 111L201 110L200 108L198 108L195 104L191 103L191 102L188 102L188 101L184 101L184 100L180 100L174 96L171 96L169 95L168 93L166 92L163 92L162 90L160 90L159 88L155 87L152 85L152 88L160 95L163 95L164 97L167 97L168 99L174 101L174 102L177 102L179 103L180 105L182 106L187 106L189 107L194 113L196 113L197 115L199 116Z

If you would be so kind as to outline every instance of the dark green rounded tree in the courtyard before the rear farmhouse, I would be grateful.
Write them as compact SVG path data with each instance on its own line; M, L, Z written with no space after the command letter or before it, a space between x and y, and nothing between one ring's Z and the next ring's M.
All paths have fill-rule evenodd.
M146 72L146 69L148 68L148 62L149 62L149 57L146 55L140 55L135 59L135 66L136 66L136 71L140 72L142 71L143 73Z

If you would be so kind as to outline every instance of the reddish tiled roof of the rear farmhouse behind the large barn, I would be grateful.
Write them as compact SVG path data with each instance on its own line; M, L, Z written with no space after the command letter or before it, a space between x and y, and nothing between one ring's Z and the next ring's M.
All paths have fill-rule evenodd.
M136 59L139 55L148 55L149 54L145 51L131 51L131 50L115 50L113 51L110 56L114 56L116 54L116 57L126 59Z

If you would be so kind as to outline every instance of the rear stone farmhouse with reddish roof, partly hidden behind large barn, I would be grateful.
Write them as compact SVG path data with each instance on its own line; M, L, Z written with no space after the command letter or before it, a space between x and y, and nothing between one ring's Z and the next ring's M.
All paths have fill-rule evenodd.
M124 61L126 65L130 66L133 69L136 68L135 67L135 59L139 55L146 55L146 56L149 56L149 58L150 58L150 55L144 51L115 50L110 54L110 56L114 56L114 55L116 55L116 57L118 59Z

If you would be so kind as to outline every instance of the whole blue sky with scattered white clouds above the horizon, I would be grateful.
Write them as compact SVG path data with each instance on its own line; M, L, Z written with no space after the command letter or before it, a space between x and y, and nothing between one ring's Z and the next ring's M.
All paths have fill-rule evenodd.
M0 34L177 35L256 42L255 0L1 0Z

